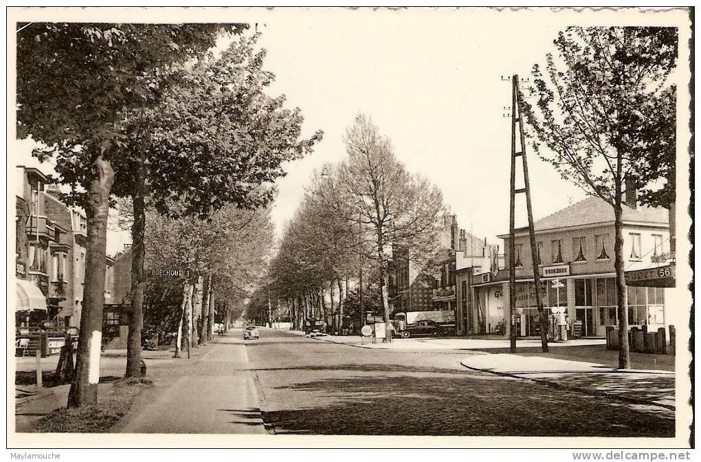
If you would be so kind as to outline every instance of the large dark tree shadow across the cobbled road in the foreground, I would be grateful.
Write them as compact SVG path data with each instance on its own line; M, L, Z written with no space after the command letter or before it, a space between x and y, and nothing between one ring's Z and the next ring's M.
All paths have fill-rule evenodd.
M355 365L339 369L359 370ZM381 369L386 372L388 367L381 365ZM275 433L674 436L673 419L620 402L533 382L475 381L470 374L353 374L273 390L284 390L296 395L297 402L309 403L301 409L264 413Z

